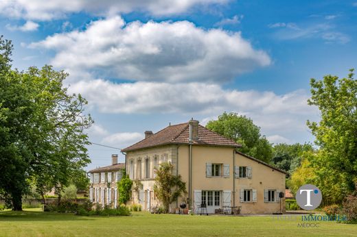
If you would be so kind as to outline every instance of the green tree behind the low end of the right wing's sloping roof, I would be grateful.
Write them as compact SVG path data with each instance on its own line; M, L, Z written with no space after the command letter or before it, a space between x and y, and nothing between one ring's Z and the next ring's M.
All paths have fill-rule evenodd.
M292 172L301 165L303 154L313 150L312 145L309 143L303 145L299 143L292 145L280 143L273 148L273 159L271 163L291 175Z

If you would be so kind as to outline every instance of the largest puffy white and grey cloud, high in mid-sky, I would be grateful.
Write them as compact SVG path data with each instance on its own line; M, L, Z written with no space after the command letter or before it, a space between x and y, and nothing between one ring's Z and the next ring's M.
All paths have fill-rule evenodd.
M228 82L269 56L253 49L240 32L205 30L188 21L94 21L80 32L48 36L32 48L56 51L51 64L72 71L139 81Z

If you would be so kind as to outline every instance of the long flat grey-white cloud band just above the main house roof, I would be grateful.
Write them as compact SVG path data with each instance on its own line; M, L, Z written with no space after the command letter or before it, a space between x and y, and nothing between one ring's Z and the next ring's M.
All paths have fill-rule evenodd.
M306 131L306 119L316 118L316 108L307 104L308 92L297 90L284 95L255 90L227 90L215 84L168 84L136 82L113 84L102 79L72 84L94 109L123 114L200 114L203 123L224 111L239 112L268 134Z

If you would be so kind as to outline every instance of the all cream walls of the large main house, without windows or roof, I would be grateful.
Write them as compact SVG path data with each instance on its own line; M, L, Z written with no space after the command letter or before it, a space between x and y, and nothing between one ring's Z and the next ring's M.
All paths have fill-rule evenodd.
M130 171L130 160L133 159L134 171L137 171L137 159L141 158L141 171L144 177L145 158L150 157L150 178L141 179L143 190L153 190L154 174L152 171L154 155L168 154L168 161L174 165L174 172L178 167L178 173L181 175L183 182L186 182L187 195L180 198L176 203L172 203L171 210L174 210L179 203L187 201L188 186L189 186L189 146L188 145L166 145L162 147L153 147L150 149L142 149L139 151L128 151L127 171ZM178 155L178 156L177 156ZM279 212L279 203L264 203L264 189L277 189L284 192L285 190L285 174L274 169L271 169L264 164L260 164L255 160L246 158L240 154L234 154L236 166L251 166L252 178L234 177L233 167L233 148L229 147L209 147L209 146L192 146L192 205L194 202L194 190L231 190L231 205L242 206L242 213L274 213ZM160 161L161 159L159 159ZM229 164L229 177L206 177L206 163ZM136 177L136 175L135 175ZM235 182L235 192L233 192L233 180ZM260 184L262 182L262 184ZM257 190L256 203L240 203L240 188L249 188ZM146 196L145 196L146 199ZM151 205L157 205L157 199L154 195L150 197ZM139 203L137 194L133 194L133 202ZM285 202L282 199L281 207L285 209ZM147 203L143 203L143 209L148 208Z

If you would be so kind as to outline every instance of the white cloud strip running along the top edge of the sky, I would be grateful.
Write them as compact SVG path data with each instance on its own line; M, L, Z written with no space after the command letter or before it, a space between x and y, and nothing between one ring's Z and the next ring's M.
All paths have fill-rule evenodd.
M89 12L108 15L133 11L149 12L152 15L170 15L187 12L195 6L224 4L229 0L12 0L0 1L0 14L11 18L48 21L65 18L67 14Z

